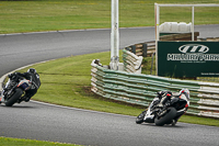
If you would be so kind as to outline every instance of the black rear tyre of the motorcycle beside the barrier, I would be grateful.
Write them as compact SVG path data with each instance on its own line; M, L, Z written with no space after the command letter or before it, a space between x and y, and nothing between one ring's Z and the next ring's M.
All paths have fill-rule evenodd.
M154 123L158 126L163 126L164 124L169 124L172 122L172 120L175 117L176 115L176 110L175 108L169 108L166 110L166 114L164 114L161 117L155 117Z

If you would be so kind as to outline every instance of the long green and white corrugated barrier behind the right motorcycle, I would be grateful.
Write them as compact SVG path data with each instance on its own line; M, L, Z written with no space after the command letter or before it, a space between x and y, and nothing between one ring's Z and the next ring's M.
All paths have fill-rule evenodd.
M91 64L92 91L104 98L148 106L161 90L191 91L187 114L219 119L219 83L178 80L151 75L110 70Z

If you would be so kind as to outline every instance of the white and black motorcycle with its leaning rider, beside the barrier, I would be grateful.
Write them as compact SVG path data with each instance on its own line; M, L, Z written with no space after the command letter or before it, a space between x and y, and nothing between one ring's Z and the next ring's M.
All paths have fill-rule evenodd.
M182 89L180 94L173 96L170 91L160 91L149 108L140 113L136 123L155 123L175 125L178 119L187 111L189 105L189 91Z

